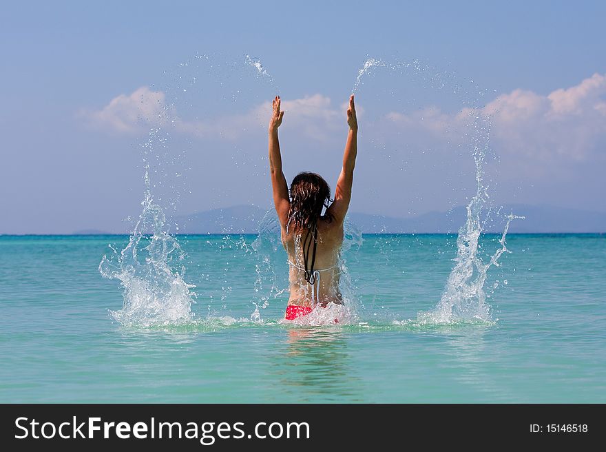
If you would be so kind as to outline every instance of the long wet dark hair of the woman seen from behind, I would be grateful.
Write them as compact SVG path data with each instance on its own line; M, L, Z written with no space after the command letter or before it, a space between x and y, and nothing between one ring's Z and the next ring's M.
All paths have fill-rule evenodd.
M331 203L331 187L320 174L301 172L291 183L291 209L289 211L289 228L297 234L305 234L303 239L303 260L305 264L305 280L315 283L313 265L317 248L318 220L332 221L330 214L322 215L322 209ZM311 262L309 251L313 245Z

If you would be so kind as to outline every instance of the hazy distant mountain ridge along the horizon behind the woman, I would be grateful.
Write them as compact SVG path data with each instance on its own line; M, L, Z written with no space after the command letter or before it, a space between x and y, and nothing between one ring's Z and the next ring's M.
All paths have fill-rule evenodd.
M510 225L513 233L563 233L606 232L606 213L589 212L551 206L505 205L504 214L512 212L525 216L525 220L514 220ZM266 210L238 205L224 209L213 209L174 218L179 232L183 234L255 234ZM273 215L273 212L270 212ZM402 233L426 234L457 232L465 223L466 207L455 207L448 212L428 212L410 218L371 215L352 212L348 220L366 234ZM486 232L502 232L505 220L488 222Z

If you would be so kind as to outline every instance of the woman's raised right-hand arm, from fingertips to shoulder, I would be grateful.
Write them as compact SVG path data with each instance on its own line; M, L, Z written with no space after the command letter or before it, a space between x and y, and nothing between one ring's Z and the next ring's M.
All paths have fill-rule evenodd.
M343 223L345 220L349 201L351 201L353 169L355 167L355 156L357 155L357 118L355 116L353 94L349 98L347 123L349 125L349 132L347 134L347 142L345 143L345 152L343 153L343 169L341 170L341 174L339 174L339 180L335 188L335 201L333 201L331 207L328 207L327 211L339 223Z

